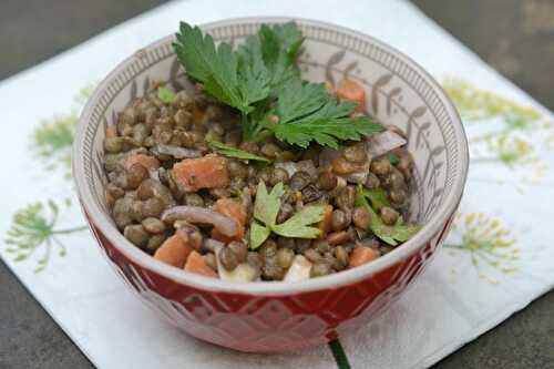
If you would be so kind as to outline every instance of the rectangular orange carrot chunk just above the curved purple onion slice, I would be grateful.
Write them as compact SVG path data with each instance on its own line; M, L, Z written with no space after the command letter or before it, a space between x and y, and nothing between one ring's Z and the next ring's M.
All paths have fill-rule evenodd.
M185 158L173 165L173 177L185 192L225 187L229 184L227 160L219 156Z

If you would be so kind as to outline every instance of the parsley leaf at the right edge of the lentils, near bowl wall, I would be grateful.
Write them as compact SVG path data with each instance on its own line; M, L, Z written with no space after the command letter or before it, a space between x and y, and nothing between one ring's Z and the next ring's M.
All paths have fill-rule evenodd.
M369 205L368 198L369 197L367 196L366 191L361 186L358 186L356 206L366 207L366 209L371 215L371 223L369 225L370 230L387 244L397 246L399 243L403 243L413 237L413 235L416 235L418 230L421 229L419 225L404 224L401 218L399 218L399 222L397 222L397 224L394 224L393 226L386 225L384 223L382 223L381 217L377 214L377 212L373 211L373 208Z

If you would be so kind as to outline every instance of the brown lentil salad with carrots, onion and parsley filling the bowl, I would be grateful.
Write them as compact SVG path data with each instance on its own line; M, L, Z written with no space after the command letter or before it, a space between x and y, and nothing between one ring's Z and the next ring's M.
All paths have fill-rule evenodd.
M153 257L234 281L299 281L391 252L408 223L403 133L365 113L356 81L302 81L295 23L233 51L182 23L193 89L154 84L106 129L106 203Z

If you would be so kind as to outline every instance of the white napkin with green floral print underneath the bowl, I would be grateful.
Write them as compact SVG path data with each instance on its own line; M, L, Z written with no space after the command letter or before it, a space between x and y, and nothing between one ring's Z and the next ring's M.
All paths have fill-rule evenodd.
M179 20L294 16L377 37L450 93L471 141L459 217L429 269L381 317L341 338L353 368L423 368L550 290L552 114L401 0L172 2L0 85L0 256L100 368L336 368L328 347L246 355L187 337L111 271L85 225L70 174L72 127L86 95ZM8 160L6 160L8 158ZM342 366L345 367L345 366Z

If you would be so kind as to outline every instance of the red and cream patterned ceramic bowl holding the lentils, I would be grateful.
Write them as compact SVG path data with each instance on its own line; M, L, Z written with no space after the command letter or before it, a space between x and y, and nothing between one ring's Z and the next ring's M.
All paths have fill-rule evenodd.
M261 23L284 18L232 19L203 25L216 41L239 42ZM295 19L305 51L302 76L348 76L368 95L367 111L406 132L414 157L411 212L422 229L363 266L302 283L233 284L162 264L116 229L104 199L105 129L150 81L182 86L173 35L136 51L96 88L76 127L73 172L82 209L107 262L138 298L170 324L202 340L242 351L276 352L326 344L387 309L429 265L462 196L468 144L460 117L440 85L401 52L369 35ZM175 24L177 28L177 24Z

